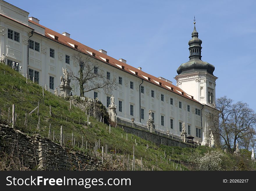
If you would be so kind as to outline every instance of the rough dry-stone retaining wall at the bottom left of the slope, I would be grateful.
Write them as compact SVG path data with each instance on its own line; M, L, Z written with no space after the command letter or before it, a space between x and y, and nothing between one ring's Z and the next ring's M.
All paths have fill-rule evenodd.
M70 151L39 134L30 137L3 124L0 125L0 152L19 158L24 167L34 170L101 169L101 162L94 158Z

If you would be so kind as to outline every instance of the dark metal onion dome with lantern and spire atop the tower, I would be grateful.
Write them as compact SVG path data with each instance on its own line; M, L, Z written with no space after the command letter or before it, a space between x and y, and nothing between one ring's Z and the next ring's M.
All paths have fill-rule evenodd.
M214 65L211 65L201 60L201 44L202 40L198 38L198 32L196 31L194 22L194 31L192 32L192 39L189 40L189 61L179 66L179 68L177 69L178 74L207 71L208 73L213 75L215 69Z

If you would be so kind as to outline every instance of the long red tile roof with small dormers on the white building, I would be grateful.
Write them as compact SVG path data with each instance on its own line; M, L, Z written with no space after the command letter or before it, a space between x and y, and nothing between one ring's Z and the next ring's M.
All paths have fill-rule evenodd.
M77 42L76 40L73 40L73 39L71 39L71 38L68 38L68 37L66 37L66 36L64 36L64 35L62 35L62 34L60 34L60 33L57 33L56 31L53 31L53 30L51 30L51 29L49 29L49 28L47 28L47 27L45 27L45 26L42 26L42 25L40 25L40 24L38 24L38 23L36 23L36 22L34 22L34 21L29 20L29 22L31 22L31 23L33 23L33 24L35 24L35 25L38 25L38 26L40 26L40 27L42 27L42 28L45 28L45 37L46 37L46 38L49 38L49 39L51 39L51 40L53 40L53 41L55 41L55 42L58 42L58 43L63 44L63 45L65 45L65 46L67 46L67 47L70 47L71 49L74 49L74 50L76 50L76 51L81 51L82 53L85 53L85 54L88 54L87 51L92 52L92 53L95 53L95 58L96 58L96 59L98 59L98 60L100 60L100 61L102 61L102 62L104 62L104 63L106 63L106 64L108 64L108 65L111 65L111 66L113 66L113 67L115 67L115 68L118 68L118 69L121 69L121 68L118 67L117 65L124 66L124 67L123 67L124 69L121 69L121 70L123 70L123 71L125 71L125 72L127 72L127 73L129 73L129 74L131 74L131 75L134 75L134 76L136 76L136 77L139 77L139 78L143 79L144 81L148 81L148 82L150 82L150 83L153 83L153 84L155 84L155 85L157 85L157 86L159 86L159 87L161 87L161 88L164 88L164 89L166 89L166 90L168 90L168 91L170 91L170 92L174 92L174 93L176 93L176 94L179 94L179 95L182 96L182 97L186 97L187 99L190 99L190 100L192 100L192 101L195 101L195 102L197 102L197 103L200 103L200 102L196 101L195 99L192 99L192 98L191 98L191 95L185 93L182 89L178 88L177 86L175 86L175 85L173 85L173 84L171 84L171 83L168 83L168 82L163 81L163 80L161 80L161 79L159 79L159 78L157 78L157 77L155 77L155 76L152 76L152 75L150 75L150 74L147 74L146 72L143 72L143 71L141 71L141 70L139 70L139 69L137 69L137 68L135 68L135 67L132 67L132 66L130 66L130 65L128 65L128 64L122 63L122 62L120 62L119 60L116 60L115 58L112 58L112 57L107 56L106 54L103 54L103 53L101 53L101 52L99 52L99 51L97 51L97 50L94 50L94 49L92 49L92 48L90 48L90 47L87 47L86 45L81 44L80 42ZM34 31L34 32L35 32L35 31ZM35 32L35 33L37 33L37 32ZM48 34L51 34L51 35L54 35L54 36L57 36L57 37L58 37L58 40L52 38L52 37L51 37L50 35L48 35L47 33L48 33ZM37 34L41 35L40 33L37 33ZM71 43L71 44L77 45L78 48L77 48L77 49L74 48L74 47L71 46L68 42ZM106 58L108 62L102 60L100 57ZM117 65L116 65L116 64L117 64ZM134 71L135 74L134 74L133 72L131 72L130 70L131 70L131 71ZM150 79L147 80L147 79L145 79L143 76L147 76L147 77L150 78ZM158 83L154 82L154 80L157 81L157 82L159 82L160 85L159 85ZM166 87L166 86L170 87L171 89L169 89L169 88ZM184 92L184 93L182 94L182 93L180 93L180 92ZM200 104L201 104L201 103L200 103Z

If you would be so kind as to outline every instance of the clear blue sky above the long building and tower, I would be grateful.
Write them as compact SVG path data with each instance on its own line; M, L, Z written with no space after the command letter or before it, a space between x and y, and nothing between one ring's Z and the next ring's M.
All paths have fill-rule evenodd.
M256 111L256 1L15 1L40 24L173 81L189 60L193 18L202 60L215 66L216 97Z

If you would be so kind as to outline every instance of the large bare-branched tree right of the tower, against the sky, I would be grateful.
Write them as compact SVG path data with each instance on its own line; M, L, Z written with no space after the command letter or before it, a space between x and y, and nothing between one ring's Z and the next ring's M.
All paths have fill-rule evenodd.
M248 148L255 137L256 114L247 103L225 97L216 100L216 109L208 115L212 131L219 136L223 147L230 153L236 149L236 143Z

